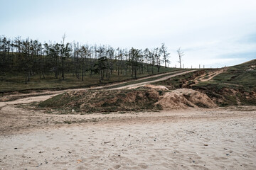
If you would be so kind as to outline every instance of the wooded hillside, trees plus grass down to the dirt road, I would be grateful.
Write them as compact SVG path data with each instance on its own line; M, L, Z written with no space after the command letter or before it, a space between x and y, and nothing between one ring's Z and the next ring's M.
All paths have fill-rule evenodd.
M173 70L168 68L169 57L164 43L153 50L114 49L109 45L65 42L65 35L60 43L3 35L0 37L0 90L68 88L74 84L83 86L85 81L99 84L137 79Z

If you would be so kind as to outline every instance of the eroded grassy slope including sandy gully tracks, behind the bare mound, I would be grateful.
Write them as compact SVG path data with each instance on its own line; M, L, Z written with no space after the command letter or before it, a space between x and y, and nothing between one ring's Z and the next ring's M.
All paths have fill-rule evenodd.
M207 80L214 71L221 73L213 79L201 81ZM154 85L168 86L171 90L188 88L200 91L218 106L256 105L256 60L219 70L200 69Z

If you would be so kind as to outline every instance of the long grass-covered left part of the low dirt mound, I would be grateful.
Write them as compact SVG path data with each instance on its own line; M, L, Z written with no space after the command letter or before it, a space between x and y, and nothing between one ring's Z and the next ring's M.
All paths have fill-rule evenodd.
M154 89L70 91L43 101L39 106L87 113L154 110L160 109L154 105L160 94Z

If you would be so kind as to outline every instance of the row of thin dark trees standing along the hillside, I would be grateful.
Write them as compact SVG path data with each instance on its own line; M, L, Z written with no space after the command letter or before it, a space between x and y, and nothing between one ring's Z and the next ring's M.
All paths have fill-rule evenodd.
M65 74L73 73L84 81L85 76L98 74L99 80L110 80L113 72L118 77L129 75L137 79L138 74L154 74L154 68L160 72L161 63L167 67L170 54L164 43L153 50L131 48L129 50L109 45L80 45L78 42L41 43L21 37L0 37L0 74L21 72L25 84L31 76L37 74L46 79L46 74L53 73L55 79L65 79Z

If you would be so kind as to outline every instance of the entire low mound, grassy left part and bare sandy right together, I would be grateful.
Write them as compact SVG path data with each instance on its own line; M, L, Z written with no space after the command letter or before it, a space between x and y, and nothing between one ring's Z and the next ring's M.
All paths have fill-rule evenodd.
M140 89L69 91L39 104L41 107L91 112L213 108L213 101L191 89L169 91L165 86L145 85Z

